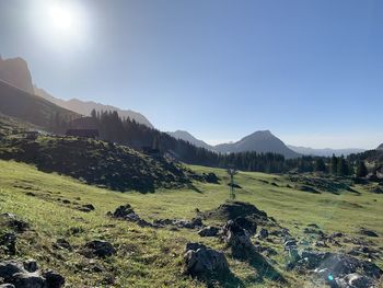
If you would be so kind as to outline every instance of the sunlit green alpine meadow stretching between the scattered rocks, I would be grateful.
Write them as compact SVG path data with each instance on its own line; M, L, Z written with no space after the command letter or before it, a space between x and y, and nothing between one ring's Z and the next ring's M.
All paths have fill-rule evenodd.
M198 172L213 171L221 177L225 176L223 170L193 169ZM15 162L0 161L0 212L14 212L31 222L34 229L20 237L19 255L34 257L42 266L58 269L72 287L111 287L103 284L107 275L116 276L115 287L204 287L182 276L185 243L202 241L216 249L223 249L217 239L201 239L193 230L142 229L134 223L111 220L105 214L129 203L144 219L192 218L196 208L211 209L227 199L224 178L220 185L195 183L200 192L176 189L142 195L86 186L70 177L45 174ZM236 180L243 187L237 193L237 199L264 209L297 237L302 235L303 228L312 222L320 224L325 232L353 234L363 226L383 235L383 195L367 193L360 187L356 188L361 192L360 196L349 192L338 196L310 194L287 188L288 182L283 177L262 173L240 173ZM259 180L275 182L279 187ZM27 196L27 192L36 196ZM71 204L65 205L59 198L69 199ZM73 209L77 205L88 203L95 206L95 211L85 214ZM83 232L69 235L68 230L72 227L81 227ZM89 261L80 254L53 250L51 245L58 238L67 238L76 250L81 249L88 240L106 239L118 246L118 254L106 261L97 260L105 267L105 273L90 273L83 268L90 265ZM382 237L374 241L383 246ZM279 247L276 249L280 254L274 260L279 263L276 267L281 269L285 256ZM232 287L240 283L246 287L277 286L267 279L254 283L256 269L245 263L230 257L229 263L239 277ZM378 264L383 266L382 262ZM298 275L286 277L291 287L311 287L309 281Z

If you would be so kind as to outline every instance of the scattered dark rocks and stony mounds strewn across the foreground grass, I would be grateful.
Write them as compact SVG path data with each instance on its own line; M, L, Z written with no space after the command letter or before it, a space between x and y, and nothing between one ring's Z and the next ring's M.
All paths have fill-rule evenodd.
M88 212L91 211L92 209ZM289 229L281 227L265 211L240 201L227 203L210 211L196 212L197 217L192 220L148 221L127 204L117 207L105 217L150 229L171 229L179 232L182 229L190 229L201 239L218 238L224 243L224 251L217 251L200 242L187 243L184 251L184 275L204 281L208 286L223 286L228 280L235 279L228 256L251 263L258 270L259 279L270 279L281 287L289 284L286 273L306 275L314 286L324 285L332 288L379 287L382 280L383 270L373 263L374 260L382 257L382 250L375 247L373 241L364 238L352 238L344 233L326 235L313 223L304 229L306 238L295 239ZM217 226L204 223L212 219L217 220ZM0 287L63 287L66 279L59 273L50 268L39 269L34 260L12 257L16 255L19 234L30 230L31 223L12 214L2 214L0 220L1 226L11 231L0 238L0 246L8 255L7 261L0 262ZM371 230L362 229L360 232L367 238L378 237ZM346 243L351 243L352 249L341 252ZM283 247L285 272L276 268L271 256L278 252L272 246ZM334 246L339 250L335 252ZM90 260L107 260L118 252L118 246L114 243L98 239L76 247L66 239L59 239L55 247L79 253ZM113 286L113 283L109 286Z

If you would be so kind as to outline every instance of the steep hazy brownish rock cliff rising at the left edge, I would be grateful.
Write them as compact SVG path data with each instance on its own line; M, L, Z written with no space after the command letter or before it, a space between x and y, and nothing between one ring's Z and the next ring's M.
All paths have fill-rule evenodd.
M34 94L32 76L26 61L22 58L2 59L0 57L0 80Z

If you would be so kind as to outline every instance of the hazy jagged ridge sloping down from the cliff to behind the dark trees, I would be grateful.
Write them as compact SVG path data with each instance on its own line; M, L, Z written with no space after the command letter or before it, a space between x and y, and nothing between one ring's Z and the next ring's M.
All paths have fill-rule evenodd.
M89 116L91 115L91 111L95 110L95 111L117 111L118 115L120 117L129 117L130 119L135 119L136 122L143 124L148 127L153 128L153 125L140 113L138 112L134 112L131 110L120 110L118 107L114 107L111 105L104 105L101 103L96 103L96 102L92 102L92 101L81 101L78 99L71 99L68 101L61 100L61 99L57 99L54 97L53 95L50 95L48 92L46 92L44 89L39 89L37 87L34 87L34 91L35 94L48 100L53 103L55 103L56 105L59 105L61 107L65 107L67 110L71 110L74 111L77 113L80 113L82 115Z

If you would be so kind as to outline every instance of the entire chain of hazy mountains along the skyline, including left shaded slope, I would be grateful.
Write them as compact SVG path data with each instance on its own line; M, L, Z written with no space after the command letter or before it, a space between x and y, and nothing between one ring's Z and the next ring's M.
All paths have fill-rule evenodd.
M37 96L36 96L37 95ZM60 114L65 118L77 118L80 115L90 115L91 111L117 111L120 117L129 117L148 127L153 125L140 113L120 110L111 105L95 102L84 102L78 99L65 101L57 99L45 90L33 85L27 64L22 58L5 59L0 57L0 113L20 117L36 125L49 125L53 116ZM312 149L306 147L287 146L269 130L253 133L236 142L210 146L195 138L187 131L177 130L167 133L176 139L211 151L221 153L231 152L274 152L287 159L306 155L347 155L364 151L363 149ZM383 143L378 148L383 150Z

